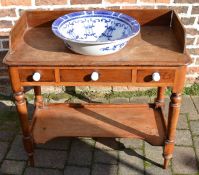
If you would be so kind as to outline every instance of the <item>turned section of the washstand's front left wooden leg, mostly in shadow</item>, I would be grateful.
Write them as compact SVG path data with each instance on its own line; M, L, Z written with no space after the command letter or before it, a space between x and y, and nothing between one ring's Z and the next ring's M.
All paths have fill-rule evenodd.
M28 154L29 163L31 166L34 166L34 158L33 158L33 140L30 134L30 127L28 121L28 111L26 106L26 100L24 93L16 92L14 93L15 103L17 107L17 111L19 114L19 119L21 122L21 128L23 132L23 144L24 148Z

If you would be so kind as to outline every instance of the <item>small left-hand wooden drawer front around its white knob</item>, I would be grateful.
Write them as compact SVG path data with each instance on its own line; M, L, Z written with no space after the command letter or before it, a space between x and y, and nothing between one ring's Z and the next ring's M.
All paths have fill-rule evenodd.
M54 82L54 69L19 69L19 77L22 82L35 82L33 75L38 72L40 78L38 82Z

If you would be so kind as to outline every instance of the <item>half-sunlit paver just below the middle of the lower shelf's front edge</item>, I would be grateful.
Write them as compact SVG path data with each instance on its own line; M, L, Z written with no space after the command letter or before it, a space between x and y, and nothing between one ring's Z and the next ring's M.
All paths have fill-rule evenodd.
M117 150L120 148L120 143L113 138L97 138L95 148L100 150Z

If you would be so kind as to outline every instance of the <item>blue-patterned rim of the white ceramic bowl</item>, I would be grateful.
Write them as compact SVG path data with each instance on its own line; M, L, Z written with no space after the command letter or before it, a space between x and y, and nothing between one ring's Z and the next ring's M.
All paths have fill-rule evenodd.
M119 19L119 20L127 23L131 28L135 27L135 25L136 25L137 29L136 29L135 33L132 32L128 37L111 40L111 41L83 41L83 40L71 39L71 38L67 38L67 37L63 36L60 33L60 31L58 30L59 27L61 25L63 25L63 23L67 20L76 19L77 17L81 18L81 17L88 17L88 16L91 16L91 17L92 16L104 16L104 17L116 18L116 19ZM65 41L74 42L74 43L85 43L85 44L108 44L108 43L113 43L113 42L117 42L117 41L121 41L121 40L129 40L132 37L135 37L140 32L140 24L138 23L138 21L136 19L134 19L133 17L131 17L129 15L126 15L125 13L118 13L118 12L114 12L114 11L110 11L110 10L83 10L83 11L68 13L63 16L58 17L57 19L55 19L53 21L51 29L57 37L65 40Z

